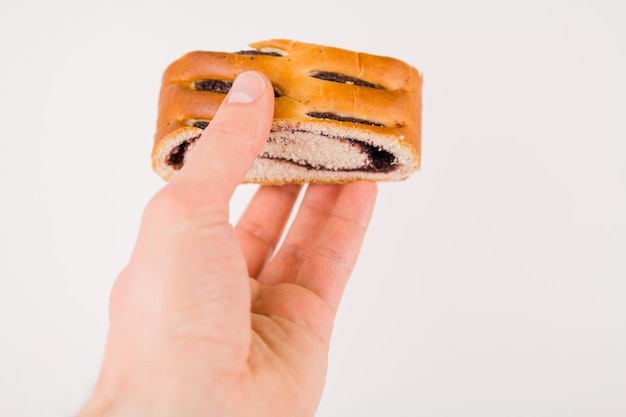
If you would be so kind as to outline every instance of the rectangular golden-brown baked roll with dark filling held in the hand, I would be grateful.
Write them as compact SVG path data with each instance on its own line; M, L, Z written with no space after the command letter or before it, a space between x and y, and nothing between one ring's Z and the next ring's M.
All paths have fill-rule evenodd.
M274 87L267 143L243 183L399 181L420 167L422 77L398 59L274 39L235 53L190 52L165 70L152 166L169 180L233 80Z

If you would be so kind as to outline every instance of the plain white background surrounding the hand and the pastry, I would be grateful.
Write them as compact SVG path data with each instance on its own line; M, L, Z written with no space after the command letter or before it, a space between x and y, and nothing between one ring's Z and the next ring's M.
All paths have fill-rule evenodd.
M380 186L318 416L626 415L625 22L617 0L3 0L0 416L91 391L162 186L162 71L275 37L425 79L422 170Z

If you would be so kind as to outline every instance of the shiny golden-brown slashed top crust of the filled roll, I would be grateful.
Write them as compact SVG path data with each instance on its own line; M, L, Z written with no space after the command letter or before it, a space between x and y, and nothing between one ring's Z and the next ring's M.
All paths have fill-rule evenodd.
M354 130L359 134L366 132L367 135L384 137L414 158L412 168L403 178L419 168L422 77L414 67L390 57L284 39L256 42L250 46L257 51L278 52L281 56L196 51L184 55L166 69L152 156L154 169L163 178L171 176L163 172L163 161L159 159L166 155L166 143L180 136L183 130L189 133L194 120L210 121L225 96L212 91L197 91L193 83L206 79L232 81L247 70L263 72L280 92L275 101L276 124L309 127L319 124L324 131ZM311 76L319 71L354 77L382 88L330 82ZM333 113L367 120L377 126L315 119L307 115L309 112ZM385 178L380 176L380 179ZM344 176L336 182L345 181Z

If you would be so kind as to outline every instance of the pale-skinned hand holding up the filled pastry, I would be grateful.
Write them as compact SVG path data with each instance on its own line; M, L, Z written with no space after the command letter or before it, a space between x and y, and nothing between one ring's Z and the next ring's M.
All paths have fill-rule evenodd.
M238 77L184 168L148 202L78 417L315 415L376 185L261 186L231 225L230 199L273 106L263 74Z

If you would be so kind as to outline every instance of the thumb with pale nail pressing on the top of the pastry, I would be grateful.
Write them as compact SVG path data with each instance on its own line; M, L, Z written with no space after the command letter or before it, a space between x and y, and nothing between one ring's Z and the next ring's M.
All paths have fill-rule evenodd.
M257 71L241 73L172 182L228 204L267 140L273 113L269 79Z

